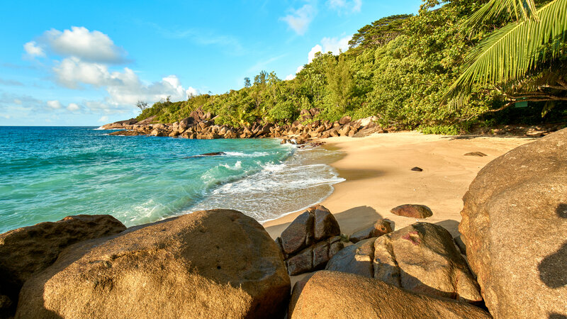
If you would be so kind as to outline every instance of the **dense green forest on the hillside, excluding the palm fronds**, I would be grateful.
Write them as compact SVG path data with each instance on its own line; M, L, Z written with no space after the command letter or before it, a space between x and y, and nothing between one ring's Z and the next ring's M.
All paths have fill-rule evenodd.
M466 84L466 94L448 93L483 41L515 23L510 13L484 15L471 26L471 16L488 2L424 0L415 16L388 16L362 27L346 52L315 55L295 79L284 81L274 72L262 71L252 81L244 79L240 90L179 102L166 99L137 119L157 116L161 123L173 123L201 107L217 116L215 123L240 127L291 123L301 110L318 108L320 120L377 116L383 127L449 134L507 121L567 122L564 31L563 39L544 40L553 46L553 56L539 58L524 76L500 83L473 81ZM564 6L566 1L534 4L539 12L551 2ZM527 107L518 108L517 102L528 102Z

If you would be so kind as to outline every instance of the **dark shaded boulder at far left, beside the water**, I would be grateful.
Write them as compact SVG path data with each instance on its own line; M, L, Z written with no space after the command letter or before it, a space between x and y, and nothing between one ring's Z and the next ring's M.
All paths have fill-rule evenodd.
M8 296L15 303L23 283L53 264L66 247L83 240L115 235L125 229L120 221L109 215L77 215L1 234L0 295Z

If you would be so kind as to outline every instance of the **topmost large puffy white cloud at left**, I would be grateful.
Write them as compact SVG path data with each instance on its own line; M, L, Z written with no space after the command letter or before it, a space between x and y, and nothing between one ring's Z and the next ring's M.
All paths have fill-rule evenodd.
M78 57L90 62L118 63L125 58L124 50L114 45L108 35L84 27L71 30L47 30L39 39L58 55Z

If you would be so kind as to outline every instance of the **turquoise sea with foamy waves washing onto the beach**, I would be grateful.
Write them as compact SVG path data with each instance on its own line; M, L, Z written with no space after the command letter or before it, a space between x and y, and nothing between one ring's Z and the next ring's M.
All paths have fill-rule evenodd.
M199 157L208 152L225 155ZM320 201L342 179L279 140L111 136L93 128L0 127L0 233L77 214L127 226L199 209L259 221Z

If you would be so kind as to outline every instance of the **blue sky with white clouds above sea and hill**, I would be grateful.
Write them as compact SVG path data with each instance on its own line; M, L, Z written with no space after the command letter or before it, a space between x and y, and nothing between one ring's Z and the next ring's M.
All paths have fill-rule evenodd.
M359 28L421 0L1 1L0 126L99 126L137 101L293 79Z

